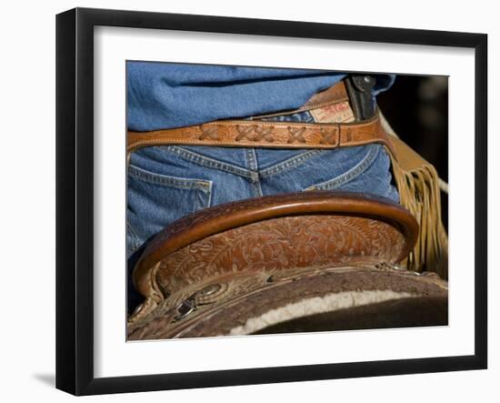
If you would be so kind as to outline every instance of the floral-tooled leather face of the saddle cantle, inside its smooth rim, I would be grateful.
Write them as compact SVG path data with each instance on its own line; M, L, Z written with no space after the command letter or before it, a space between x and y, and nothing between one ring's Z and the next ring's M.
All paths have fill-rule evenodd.
M236 227L194 242L161 260L155 281L164 296L213 277L265 271L286 276L303 268L398 261L408 252L403 234L367 217L279 217Z

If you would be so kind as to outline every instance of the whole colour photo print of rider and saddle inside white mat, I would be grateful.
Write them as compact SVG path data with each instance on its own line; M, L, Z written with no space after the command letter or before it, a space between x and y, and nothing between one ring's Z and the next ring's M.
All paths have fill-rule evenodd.
M447 76L129 60L126 136L127 341L447 326Z

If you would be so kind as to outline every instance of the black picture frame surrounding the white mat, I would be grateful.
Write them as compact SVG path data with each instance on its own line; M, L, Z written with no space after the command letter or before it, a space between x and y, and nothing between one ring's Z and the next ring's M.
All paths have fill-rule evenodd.
M98 25L475 50L475 354L119 378L94 375L94 28ZM75 395L415 374L487 366L487 35L75 8L56 16L56 388Z

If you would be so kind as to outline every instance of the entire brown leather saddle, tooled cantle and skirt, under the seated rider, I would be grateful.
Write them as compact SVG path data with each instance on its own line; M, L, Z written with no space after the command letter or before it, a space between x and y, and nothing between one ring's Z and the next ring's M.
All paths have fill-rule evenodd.
M321 191L181 218L134 270L127 339L447 324L447 282L410 271L419 226L391 200Z

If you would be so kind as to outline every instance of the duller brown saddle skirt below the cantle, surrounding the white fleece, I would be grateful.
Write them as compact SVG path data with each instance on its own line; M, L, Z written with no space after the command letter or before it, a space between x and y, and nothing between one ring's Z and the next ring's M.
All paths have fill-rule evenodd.
M362 307L325 312L321 320L305 314L291 321L292 323L276 323L273 325L275 328L264 328L257 333L294 331L294 327L298 327L295 331L311 331L317 330L317 327L320 330L335 330L447 324L447 283L435 275L418 275L387 265L302 270L292 276L275 278L262 274L263 272L253 275L240 273L215 279L212 286L216 284L224 287L218 288L212 299L195 302L196 309L184 317L179 315L177 307L185 300L185 295L165 299L151 315L129 324L127 338L137 340L230 335L235 328L245 327L248 320L262 317L266 312L297 301L332 294L342 297L348 296L349 292L363 295L387 290L396 294L405 293L406 297L384 301L382 307L378 307L375 301ZM418 315L405 317L412 311ZM313 324L316 322L316 325L308 327L307 324L311 324L311 321Z

